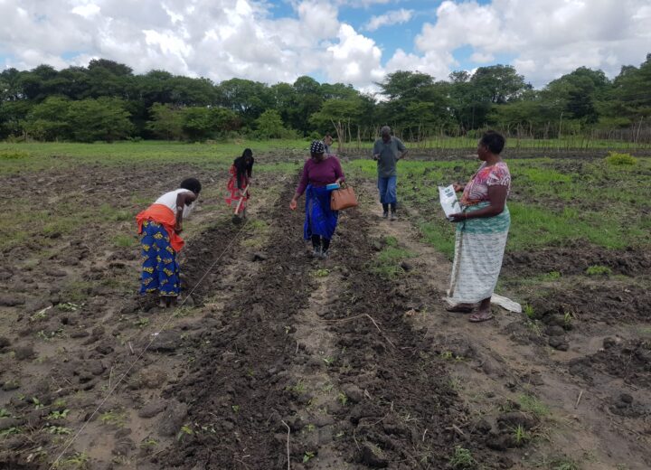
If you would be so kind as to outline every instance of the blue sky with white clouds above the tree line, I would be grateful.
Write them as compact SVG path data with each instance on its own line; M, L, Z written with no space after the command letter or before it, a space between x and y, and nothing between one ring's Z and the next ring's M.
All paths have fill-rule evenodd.
M536 88L609 77L651 52L651 0L0 0L0 69L92 59L136 73L373 92L393 71L447 80L510 64Z

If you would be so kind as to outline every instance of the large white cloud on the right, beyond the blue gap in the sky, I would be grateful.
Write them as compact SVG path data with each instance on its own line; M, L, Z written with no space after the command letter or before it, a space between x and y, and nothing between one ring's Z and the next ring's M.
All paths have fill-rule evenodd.
M436 69L453 63L449 52L469 46L476 63L513 58L535 86L580 66L614 76L622 64L638 64L651 52L648 24L648 0L445 1L436 23L424 24L416 37L421 55L414 59ZM436 63L423 63L429 61Z

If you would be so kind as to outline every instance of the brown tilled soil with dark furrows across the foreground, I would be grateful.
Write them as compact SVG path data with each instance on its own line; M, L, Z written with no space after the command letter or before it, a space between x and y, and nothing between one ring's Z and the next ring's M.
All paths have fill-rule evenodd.
M469 324L440 302L448 261L408 217L379 217L373 183L355 187L362 208L342 214L324 261L308 256L303 215L286 208L292 184L263 174L241 227L222 208L224 182L206 188L207 209L186 224L184 305L159 309L133 294L137 246L113 237L133 232L143 205L127 194L148 201L175 184L169 174L91 166L2 179L40 188L27 202L52 218L70 215L69 198L129 217L54 237L30 225L5 249L0 468L49 468L61 453L61 468L285 468L288 455L295 469L461 468L456 447L483 468L553 468L564 456L583 468L651 465L643 287L550 287L532 297L537 330L496 310ZM414 255L392 278L376 269L388 236ZM536 262L518 256L505 268ZM648 267L636 257L622 254L629 272L598 250L585 263L635 276ZM584 270L556 259L535 273ZM568 309L571 324L553 324ZM548 346L551 326L567 351Z

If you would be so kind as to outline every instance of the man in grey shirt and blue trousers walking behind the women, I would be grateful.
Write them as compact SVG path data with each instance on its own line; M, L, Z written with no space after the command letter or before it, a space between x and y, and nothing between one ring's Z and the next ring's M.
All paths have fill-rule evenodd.
M378 190L380 190L380 202L382 202L382 217L389 217L391 206L391 220L396 219L396 205L398 196L396 194L396 162L407 155L407 148L402 144L401 139L391 135L391 127L382 127L382 138L373 144L373 160L378 163Z

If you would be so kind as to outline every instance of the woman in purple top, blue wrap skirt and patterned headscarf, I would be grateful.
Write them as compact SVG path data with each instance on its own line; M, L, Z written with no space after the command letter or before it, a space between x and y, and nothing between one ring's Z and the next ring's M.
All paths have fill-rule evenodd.
M311 158L303 166L303 174L298 183L289 209L297 208L298 198L306 193L306 221L303 225L305 240L312 240L315 258L327 258L330 240L335 234L338 211L330 209L330 191L327 184L344 181L344 172L335 155L325 155L324 143L313 140L310 146Z

